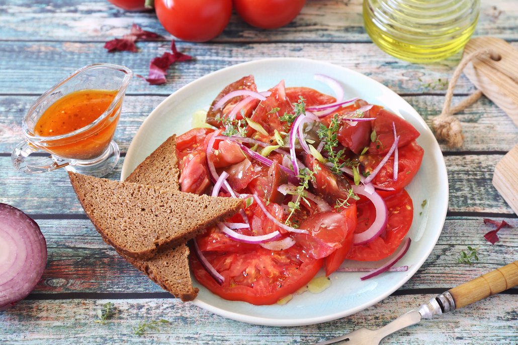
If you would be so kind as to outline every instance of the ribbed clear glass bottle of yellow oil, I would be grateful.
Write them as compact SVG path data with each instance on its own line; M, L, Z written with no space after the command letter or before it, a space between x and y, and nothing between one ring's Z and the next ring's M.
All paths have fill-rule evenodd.
M363 18L381 50L414 63L460 51L473 34L480 0L364 0Z

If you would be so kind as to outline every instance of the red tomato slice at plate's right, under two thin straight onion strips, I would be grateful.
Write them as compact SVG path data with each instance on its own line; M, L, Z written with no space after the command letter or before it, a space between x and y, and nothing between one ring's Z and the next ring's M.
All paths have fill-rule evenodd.
M415 174L418 172L423 160L424 150L418 143L412 141L406 146L398 147L398 171L397 180L394 181L394 155L384 164L374 178L375 185L400 190L405 188ZM371 172L383 159L385 155L366 154L360 158L366 172ZM381 195L387 193L381 193Z

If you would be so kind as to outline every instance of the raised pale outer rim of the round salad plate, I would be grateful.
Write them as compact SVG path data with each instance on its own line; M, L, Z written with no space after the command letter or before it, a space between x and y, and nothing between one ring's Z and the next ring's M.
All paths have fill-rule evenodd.
M382 90L384 93L387 93L391 97L394 97L401 104L405 104L406 105L405 109L402 109L402 110L404 110L406 112L405 116L403 116L403 117L407 118L408 116L410 116L412 119L416 120L417 122L419 122L421 124L422 127L418 128L418 130L420 130L420 132L421 132L421 137L420 138L422 138L423 134L425 134L425 133L426 133L427 139L429 141L430 141L430 138L433 138L433 140L431 140L428 143L429 145L431 145L431 148L432 148L431 157L429 157L428 159L432 159L435 163L438 164L438 170L436 171L436 174L437 174L438 178L443 181L443 185L445 185L445 189L441 189L439 191L442 194L442 203L441 203L441 205L439 205L438 208L436 207L437 211L434 214L434 217L438 217L439 219L442 219L442 221L439 220L439 222L437 223L437 226L436 226L437 228L442 229L442 227L444 225L445 217L446 217L446 214L447 214L447 211L448 211L448 198L449 198L449 195L448 195L449 194L449 191L448 191L448 175L447 175L447 171L446 171L446 168L445 168L444 158L442 156L442 152L441 152L440 146L437 143L437 141L435 140L435 137L433 136L433 133L428 128L428 126L426 125L426 123L424 122L422 117L410 106L410 104L408 102L406 102L404 99L402 99L399 95L397 95L391 89L389 89L388 87L384 86L383 84L377 82L376 80L373 80L373 79L365 76L362 73L356 72L356 71L351 70L351 69L346 68L346 67L341 67L341 66L338 66L338 65L335 65L335 64L332 64L332 63L328 63L328 62L315 61L313 59L308 59L308 58L276 57L276 58L256 59L256 60L253 60L253 61L236 64L236 65L233 65L233 66L229 66L229 67L226 67L226 68L223 68L223 69L211 72L211 73L207 74L206 76L198 78L195 81L193 81L193 82L191 82L189 84L186 84L185 86L179 88L175 93L172 93L170 96L165 98L159 104L159 106L157 106L150 113L150 115L145 119L145 121L143 121L143 123L140 126L139 130L135 134L135 137L133 138L130 146L128 147L128 151L126 153L126 157L125 157L125 160L124 160L124 163L123 163L123 167L122 167L121 181L123 181L131 173L131 171L133 171L133 169L136 167L136 165L138 165L138 162L140 162L143 158L145 158L145 156L140 157L140 159L136 159L135 157L138 157L138 154L139 154L139 144L142 142L143 138L145 137L146 128L148 126L150 126L150 124L153 123L153 121L154 121L153 118L154 118L154 116L156 116L157 113L161 112L163 110L163 108L168 107L168 103L172 99L174 99L175 97L178 97L178 95L181 95L182 93L185 93L190 88L195 88L196 85L205 83L208 79L219 77L219 76L224 76L226 73L228 73L229 71L233 71L236 68L247 68L247 69L250 69L251 70L250 74L253 74L252 71L254 69L257 69L258 67L260 67L262 65L273 65L273 66L275 66L276 64L279 64L279 63L286 63L286 64L291 64L291 63L293 63L293 64L308 63L308 64L314 64L315 66L321 66L321 67L324 67L324 68L327 67L328 69L338 68L338 69L341 69L343 72L351 74L351 76L354 76L355 78L367 78L367 79L370 79L371 81L375 82L377 84L377 87L380 90ZM310 72L307 72L307 73L310 73ZM304 86L304 85L301 85L301 86ZM208 106L208 104L207 104L207 106ZM398 114L398 115L401 116L401 114ZM431 137L430 137L430 135L431 135ZM160 142L156 143L155 147L157 147L158 145L160 145ZM430 153L428 153L428 154L430 154ZM142 154L140 154L140 156L142 156ZM135 161L137 161L137 162L135 162ZM414 202L414 204L415 204L415 202ZM442 206L442 207L440 207L440 206ZM437 243L437 240L439 238L440 233L441 233L441 230L436 231L434 233L435 236L432 237L432 238L429 238L429 239L433 240L433 245L429 246L428 250L426 252L424 252L422 254L422 256L420 256L420 259L417 262L413 262L412 263L412 265L409 267L409 270L406 272L404 277L402 277L402 279L400 279L400 281L398 281L397 284L395 284L391 289L386 290L385 293L377 295L376 298L373 298L368 303L357 305L356 307L350 308L347 311L335 312L333 314L327 314L327 315L323 315L323 316L319 316L319 317L314 317L314 318L308 318L308 319L270 319L270 318L264 318L264 317L256 317L256 316L253 316L251 314L242 314L242 313L237 313L237 312L233 312L233 311L229 311L229 310L223 310L223 309L221 309L221 308L219 308L217 306L213 306L210 303L207 303L207 302L203 301L203 299L201 299L201 298L196 298L193 301L193 303L195 305L203 308L203 309L211 311L211 312L213 312L215 314L218 314L220 316L223 316L223 317L226 317L226 318L229 318L229 319L233 319L233 320L237 320L237 321L257 324L257 325L301 326L301 325L317 324L317 323L322 323L322 322L336 320L336 319L339 319L339 318L342 318L342 317L349 316L349 315L351 315L353 313L356 313L358 311L361 311L361 310L363 310L363 309L365 309L367 307L370 307L370 306L380 302L382 299L386 298L387 296L391 295L397 289L399 289L405 282L407 282L415 274L415 272L418 271L418 269L421 267L421 265L428 258L429 254L431 253L431 250L433 250L435 244ZM372 279L376 279L376 278L372 278ZM228 301L225 301L225 302L228 302ZM242 302L235 302L235 303L242 303Z

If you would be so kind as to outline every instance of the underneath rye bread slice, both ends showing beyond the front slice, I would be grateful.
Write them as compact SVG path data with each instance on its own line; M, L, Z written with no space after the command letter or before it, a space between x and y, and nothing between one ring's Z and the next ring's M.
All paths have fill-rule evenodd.
M176 136L169 137L128 176L125 182L153 185L161 189L180 190L176 156ZM124 256L128 262L146 274L183 302L192 301L198 288L192 285L189 271L189 247L181 244L157 253L154 258L137 260Z

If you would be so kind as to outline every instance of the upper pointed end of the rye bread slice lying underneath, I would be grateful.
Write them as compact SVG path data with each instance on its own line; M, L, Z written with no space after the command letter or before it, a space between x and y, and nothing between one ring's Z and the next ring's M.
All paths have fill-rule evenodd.
M143 160L125 181L178 191L180 190L179 174L176 134L173 134Z

